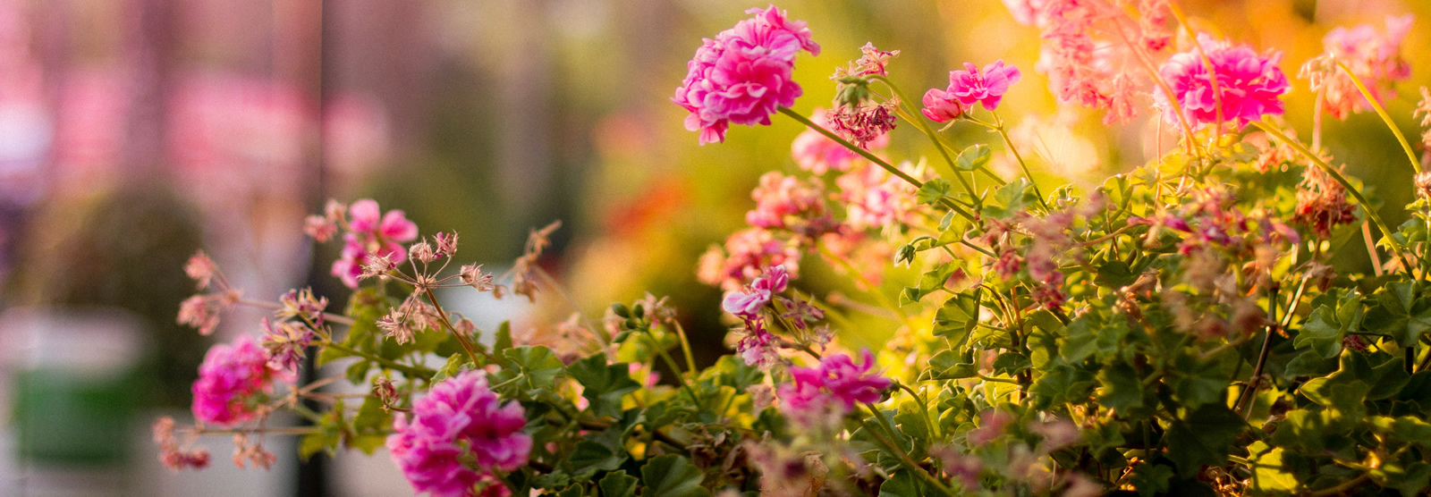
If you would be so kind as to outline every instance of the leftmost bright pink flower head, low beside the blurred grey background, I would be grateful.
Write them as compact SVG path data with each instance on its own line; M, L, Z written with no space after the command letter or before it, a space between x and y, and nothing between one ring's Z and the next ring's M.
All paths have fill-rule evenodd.
M193 383L193 417L207 424L233 426L258 416L250 406L252 397L272 393L275 378L292 380L285 371L269 367L269 360L248 336L232 346L209 348L199 366L199 380Z

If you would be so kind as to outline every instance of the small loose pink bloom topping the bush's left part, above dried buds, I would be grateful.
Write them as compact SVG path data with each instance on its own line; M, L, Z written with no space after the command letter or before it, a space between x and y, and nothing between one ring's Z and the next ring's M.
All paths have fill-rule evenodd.
M418 239L418 224L409 221L401 210L384 214L372 199L355 201L348 207L348 217L343 251L333 261L332 274L342 278L349 288L358 287L358 277L369 256L401 261L408 257L402 243Z

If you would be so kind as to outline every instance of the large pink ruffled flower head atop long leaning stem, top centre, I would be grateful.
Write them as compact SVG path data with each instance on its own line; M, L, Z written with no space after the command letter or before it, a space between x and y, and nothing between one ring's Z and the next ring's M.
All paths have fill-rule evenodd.
M801 94L791 80L800 50L820 54L804 21L787 20L774 6L751 9L754 17L705 39L687 64L685 80L671 99L691 114L685 129L700 143L726 141L730 123L770 124L778 107Z

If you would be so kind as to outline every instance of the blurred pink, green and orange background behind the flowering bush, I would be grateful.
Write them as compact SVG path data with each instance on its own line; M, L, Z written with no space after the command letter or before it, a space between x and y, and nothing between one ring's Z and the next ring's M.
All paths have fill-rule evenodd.
M1199 29L1285 51L1289 76L1337 26L1418 16L1402 53L1412 81L1388 111L1415 136L1417 87L1431 67L1431 6L1415 0L1179 3ZM260 313L229 313L213 337L175 324L206 250L255 298L313 286L335 303L336 247L302 220L326 199L372 197L424 234L461 233L459 260L502 267L527 231L562 220L542 261L600 316L645 291L671 296L710 363L726 353L720 291L695 283L697 257L743 226L768 170L796 171L800 127L736 127L697 146L670 96L701 37L744 19L748 0L0 0L0 494L389 496L409 488L384 454L236 470L228 440L213 466L169 473L147 424L185 423L189 384L215 341L256 334ZM997 0L788 0L823 47L797 59L796 109L829 107L829 76L873 41L906 94L947 84L966 60L1023 69L1005 116L1043 140L1039 183L1096 186L1172 140L1155 119L1103 127L1060 113L1035 71L1037 30ZM1308 133L1312 94L1294 80L1288 121ZM992 137L956 127L956 143ZM929 151L910 130L890 156ZM1371 113L1328 120L1324 143L1405 219L1411 181ZM999 149L995 146L995 149ZM1035 161L1039 161L1036 159ZM1043 160L1045 166L1049 161ZM1047 190L1047 189L1046 189ZM803 288L844 287L816 257ZM1338 254L1367 270L1361 244ZM907 274L892 273L893 294ZM572 311L468 303L484 328L514 318L541 334ZM844 330L879 348L887 330ZM222 437L220 437L222 438ZM230 448L225 448L230 447Z

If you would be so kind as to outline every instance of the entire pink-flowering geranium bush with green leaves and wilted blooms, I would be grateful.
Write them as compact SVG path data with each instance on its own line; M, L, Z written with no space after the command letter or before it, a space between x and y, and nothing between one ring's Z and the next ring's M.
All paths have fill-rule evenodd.
M485 273L454 263L454 233L419 237L371 200L329 203L305 231L356 247L341 261L343 273L358 266L341 311L309 288L240 298L213 260L186 266L200 294L180 320L200 333L232 306L272 314L258 344L210 351L195 384L199 424L155 424L160 460L203 467L193 440L222 433L235 464L269 467L278 456L263 437L298 433L301 457L386 446L414 490L434 496L1431 487L1431 423L1417 404L1431 374L1431 288L1418 283L1431 261L1431 173L1410 146L1410 164L1387 167L1415 187L1411 219L1392 229L1334 166L1384 157L1334 160L1317 119L1327 101L1285 109L1275 51L1173 39L1188 19L1206 24L1168 0L1005 4L1042 31L1036 70L1060 103L1158 137L1136 150L1108 141L1122 173L1098 181L1079 167L1078 183L1045 190L1072 161L1102 160L1047 144L1072 140L1065 120L1083 110L1060 109L1058 134L993 113L1019 80L1003 60L900 101L894 80L917 76L897 74L896 50L866 44L836 70L834 110L803 117L788 107L788 69L814 44L803 23L760 9L705 41L677 99L704 141L774 110L807 127L790 149L800 169L761 176L746 226L697 263L697 278L724 290L695 306L724 311L728 354L698 361L688 317L651 294L600 321L562 311L571 317L527 317L534 333L479 328L435 290L587 307L538 264L558 223L532 230L511 270ZM1400 26L1377 43L1401 43ZM1404 74L1397 50L1358 49L1381 33L1335 33L1349 74L1377 77L1354 57L1387 63L1388 81ZM1126 119L1156 110L1176 126ZM1284 111L1311 133L1265 119ZM1256 130L1222 133L1219 121ZM893 133L929 140L902 150L936 154L884 149ZM1368 264L1347 263L1358 257ZM801 263L816 277L798 280ZM275 394L298 366L335 361ZM322 388L342 381L351 393ZM279 410L313 426L272 426Z

